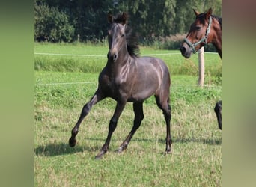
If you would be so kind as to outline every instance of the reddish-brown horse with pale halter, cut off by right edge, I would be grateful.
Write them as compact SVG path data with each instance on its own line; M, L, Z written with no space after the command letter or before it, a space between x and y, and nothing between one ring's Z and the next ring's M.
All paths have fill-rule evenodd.
M180 46L180 52L185 58L197 52L207 43L213 43L222 58L222 18L213 16L210 8L207 13L195 13L195 22L190 26L189 34ZM218 120L219 129L222 129L222 101L216 102L214 111Z

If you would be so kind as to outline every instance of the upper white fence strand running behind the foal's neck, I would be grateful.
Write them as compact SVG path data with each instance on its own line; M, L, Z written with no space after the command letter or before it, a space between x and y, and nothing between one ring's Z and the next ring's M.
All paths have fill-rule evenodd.
M218 54L216 52L204 52L204 53ZM81 57L106 58L106 55L63 54L63 53L47 53L47 52L34 52L34 55L58 55L58 56L81 56ZM159 55L180 55L180 52L159 53L159 54L145 54L145 55L141 55L141 56L159 56Z

